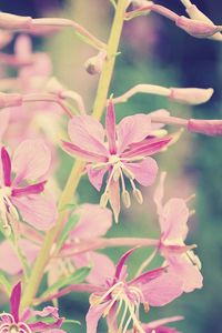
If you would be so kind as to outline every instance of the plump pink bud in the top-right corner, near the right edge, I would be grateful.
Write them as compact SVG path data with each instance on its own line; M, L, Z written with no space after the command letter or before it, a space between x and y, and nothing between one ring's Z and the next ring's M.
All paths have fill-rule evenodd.
M208 38L221 31L221 27L216 27L213 23L191 20L185 17L179 17L175 20L175 24L196 38Z

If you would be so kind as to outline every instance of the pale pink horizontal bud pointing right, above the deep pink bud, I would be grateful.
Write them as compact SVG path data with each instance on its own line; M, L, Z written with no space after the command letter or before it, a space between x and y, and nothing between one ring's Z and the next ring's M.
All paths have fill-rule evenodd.
M170 100L193 105L208 102L213 94L212 88L170 88Z

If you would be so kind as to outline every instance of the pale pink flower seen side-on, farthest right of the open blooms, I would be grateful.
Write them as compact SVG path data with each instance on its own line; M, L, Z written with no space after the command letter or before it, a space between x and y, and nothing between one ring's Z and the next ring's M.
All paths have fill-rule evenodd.
M160 252L167 260L169 272L183 280L183 291L191 292L202 287L203 276L199 258L184 244L190 212L185 200L180 198L172 198L163 205L164 179L165 173L162 173L154 194L161 228Z

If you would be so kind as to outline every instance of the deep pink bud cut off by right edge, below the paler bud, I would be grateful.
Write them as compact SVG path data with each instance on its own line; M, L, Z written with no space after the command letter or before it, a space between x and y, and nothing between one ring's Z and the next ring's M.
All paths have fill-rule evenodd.
M190 119L188 121L188 130L211 137L222 135L222 120Z

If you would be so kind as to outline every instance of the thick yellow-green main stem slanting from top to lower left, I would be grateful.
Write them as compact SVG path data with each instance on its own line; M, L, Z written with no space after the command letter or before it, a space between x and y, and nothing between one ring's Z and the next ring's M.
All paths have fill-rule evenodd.
M117 4L115 16L110 33L110 39L108 43L108 54L107 60L102 69L102 73L100 77L97 97L94 101L94 108L92 115L97 119L100 119L102 117L108 92L110 88L110 82L112 79L112 72L114 68L115 62L115 54L118 52L120 37L122 32L122 27L124 22L124 13L127 8L128 0L119 0ZM73 165L73 169L70 173L70 176L67 181L67 185L63 190L63 193L61 195L60 202L59 202L59 210L63 208L65 204L69 204L73 198L73 194L78 188L79 181L81 179L82 171L84 169L84 162L77 161ZM43 241L41 251L39 253L39 256L36 261L36 264L32 270L32 274L30 276L29 283L27 287L24 289L23 297L22 297L22 309L30 306L32 303L32 300L34 299L39 285L42 280L42 275L44 273L46 266L50 260L51 256L51 249L53 245L53 242L58 238L62 226L63 221L67 216L67 212L62 211L60 212L59 219L57 221L57 224L54 228L52 228L46 235L46 239Z

